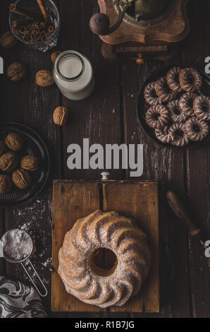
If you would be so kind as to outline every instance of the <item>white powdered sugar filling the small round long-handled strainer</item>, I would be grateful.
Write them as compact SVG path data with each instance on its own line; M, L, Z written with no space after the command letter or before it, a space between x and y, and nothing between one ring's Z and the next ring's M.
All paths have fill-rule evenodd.
M10 230L3 239L4 255L8 259L23 260L31 254L32 240L23 230Z

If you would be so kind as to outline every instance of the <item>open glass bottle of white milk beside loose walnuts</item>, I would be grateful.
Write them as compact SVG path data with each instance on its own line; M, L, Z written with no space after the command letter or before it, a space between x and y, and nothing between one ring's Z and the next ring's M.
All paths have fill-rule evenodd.
M82 100L94 90L92 65L76 51L61 53L54 64L54 81L62 95L70 100Z

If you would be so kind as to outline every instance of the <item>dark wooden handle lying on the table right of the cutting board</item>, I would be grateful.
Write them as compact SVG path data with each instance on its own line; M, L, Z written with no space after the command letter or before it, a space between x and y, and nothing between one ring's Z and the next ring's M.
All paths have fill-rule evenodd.
M192 222L192 218L180 198L171 190L167 191L166 198L175 215L187 226L190 235L192 237L198 235L201 230Z

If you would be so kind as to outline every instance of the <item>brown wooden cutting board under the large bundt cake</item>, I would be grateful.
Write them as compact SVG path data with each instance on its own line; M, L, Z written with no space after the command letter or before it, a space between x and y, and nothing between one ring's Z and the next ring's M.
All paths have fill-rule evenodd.
M78 218L93 211L118 211L147 232L152 267L139 295L123 307L85 304L69 295L57 273L58 250ZM106 257L103 259L107 259ZM109 259L109 258L108 258ZM53 192L51 310L53 312L159 312L159 204L157 182L56 180Z

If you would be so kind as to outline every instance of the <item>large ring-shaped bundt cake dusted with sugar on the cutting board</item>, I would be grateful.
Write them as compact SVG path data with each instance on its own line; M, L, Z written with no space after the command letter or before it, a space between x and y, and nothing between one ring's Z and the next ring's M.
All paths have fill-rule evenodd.
M109 270L94 261L101 248L115 254ZM58 260L66 291L82 302L106 308L122 306L140 292L149 273L151 253L147 236L134 220L97 210L77 220L66 233Z

